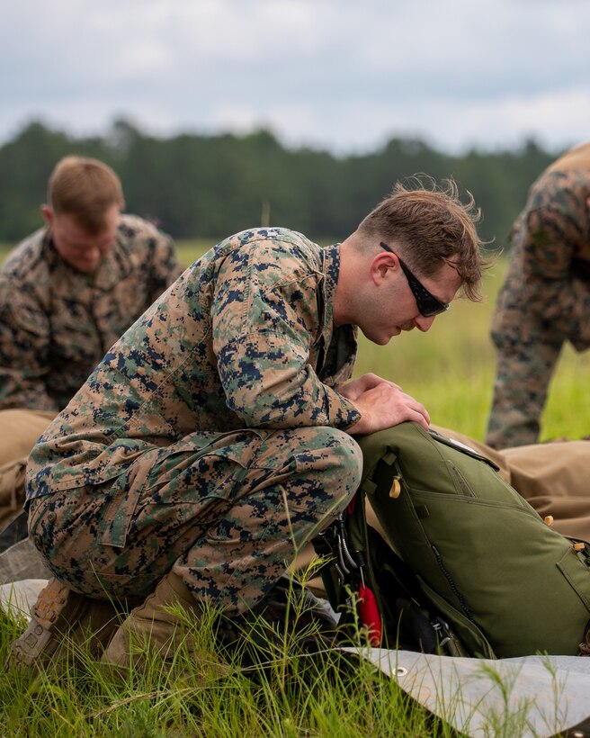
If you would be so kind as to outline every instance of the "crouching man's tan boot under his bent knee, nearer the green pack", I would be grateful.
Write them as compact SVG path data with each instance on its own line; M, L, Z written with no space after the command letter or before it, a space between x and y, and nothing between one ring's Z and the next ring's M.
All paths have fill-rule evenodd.
M165 659L172 661L183 642L192 653L195 645L189 633L190 626L166 610L174 605L182 605L191 619L201 622L202 609L197 600L177 574L168 572L143 604L131 610L130 616L113 635L101 661L125 670L132 660L136 661L136 654L137 660L141 661L146 648L155 648Z

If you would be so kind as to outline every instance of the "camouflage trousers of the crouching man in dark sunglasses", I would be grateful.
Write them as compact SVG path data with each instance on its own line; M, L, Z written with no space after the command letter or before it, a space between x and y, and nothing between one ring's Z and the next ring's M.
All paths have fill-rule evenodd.
M197 599L243 613L361 473L359 446L335 428L194 433L114 481L32 500L29 533L58 580L86 595L147 596L172 570Z

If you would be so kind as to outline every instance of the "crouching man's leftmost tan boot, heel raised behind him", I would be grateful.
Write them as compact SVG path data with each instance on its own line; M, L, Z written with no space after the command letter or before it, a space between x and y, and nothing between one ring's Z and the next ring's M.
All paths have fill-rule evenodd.
M113 602L86 597L51 579L32 608L29 626L10 644L4 668L40 668L71 660L76 655L73 644L85 644L98 657L121 623L121 610Z

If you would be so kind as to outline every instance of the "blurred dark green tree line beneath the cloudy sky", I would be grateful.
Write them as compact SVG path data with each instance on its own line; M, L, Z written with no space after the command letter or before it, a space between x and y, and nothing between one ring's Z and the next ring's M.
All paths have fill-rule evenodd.
M514 150L451 156L420 139L396 138L368 154L336 157L284 148L268 130L156 138L119 120L103 136L80 138L31 121L0 148L0 240L16 243L40 227L51 169L78 154L111 165L127 211L177 239L218 240L257 225L342 239L395 182L424 173L439 182L451 175L472 193L482 237L504 247L529 186L559 153L527 140Z

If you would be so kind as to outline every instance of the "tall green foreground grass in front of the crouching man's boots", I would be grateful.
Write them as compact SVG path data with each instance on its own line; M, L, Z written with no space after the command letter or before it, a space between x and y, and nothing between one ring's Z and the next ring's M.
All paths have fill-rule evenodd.
M305 606L293 600L294 622ZM180 609L174 609L183 617ZM277 635L264 666L227 659L215 644L215 617L183 618L186 640L174 663L143 649L138 668L121 676L84 647L59 672L0 672L3 736L451 736L441 719L416 705L368 662L326 651L301 652L292 632ZM0 659L22 629L0 616ZM363 634L358 644L363 643ZM187 644L191 643L191 648ZM195 658L194 654L198 654ZM353 661L351 661L353 659Z

